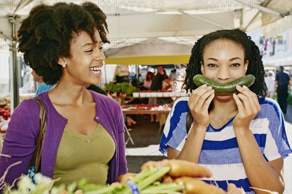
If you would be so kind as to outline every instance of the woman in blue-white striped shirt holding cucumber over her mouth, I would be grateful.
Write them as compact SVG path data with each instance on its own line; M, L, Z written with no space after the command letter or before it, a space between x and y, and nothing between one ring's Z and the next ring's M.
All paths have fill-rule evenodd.
M292 150L281 109L264 98L264 73L258 47L244 32L201 37L186 69L191 95L174 103L160 151L168 159L204 164L214 178L203 179L224 190L228 180L245 192L257 193L250 188L257 187L283 193L283 159ZM204 76L200 87L193 81L197 74Z

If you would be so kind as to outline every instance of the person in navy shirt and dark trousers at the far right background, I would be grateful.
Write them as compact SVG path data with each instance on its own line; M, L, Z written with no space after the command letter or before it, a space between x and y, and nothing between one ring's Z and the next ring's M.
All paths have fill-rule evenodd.
M290 85L290 88L288 88ZM280 71L276 74L275 79L275 89L277 90L277 97L279 106L284 114L287 113L287 98L288 98L288 90L291 92L292 82L291 76L288 72L284 71L284 67L280 66Z

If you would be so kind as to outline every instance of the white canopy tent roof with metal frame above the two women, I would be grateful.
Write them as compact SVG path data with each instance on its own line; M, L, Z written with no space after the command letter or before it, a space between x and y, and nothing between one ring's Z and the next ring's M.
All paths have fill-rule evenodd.
M10 41L10 69L13 80L17 79L16 42L19 22L26 18L29 11L40 3L53 4L58 0L1 0L0 1L0 37ZM70 2L81 3L85 0ZM292 27L291 0L89 0L102 8L107 15L111 42L120 44L122 40L132 42L135 39L152 38L165 40L165 46L174 49L164 56L177 55L179 47L193 45L207 34L221 29L240 28L251 31L265 26L265 36L272 36L279 30ZM148 41L151 44L151 41ZM112 50L115 43L105 46ZM180 45L180 46L174 46ZM151 46L151 45L147 45ZM175 49L177 47L177 49ZM143 50L140 50L143 51ZM106 51L107 52L107 51ZM129 51L130 52L130 51ZM108 51L109 59L112 51ZM127 53L127 52L126 52ZM156 53L156 52L152 52ZM162 53L163 54L163 53ZM189 55L190 53L182 53ZM138 55L138 54L137 54ZM149 56L149 52L140 52L139 56ZM158 56L158 55L157 55ZM166 56L166 57L165 57ZM168 56L168 57L167 57ZM125 58L127 55L118 58ZM182 57L182 60L185 59ZM127 59L125 59L127 60ZM157 59L158 60L158 59ZM11 96L19 103L18 83L14 82Z

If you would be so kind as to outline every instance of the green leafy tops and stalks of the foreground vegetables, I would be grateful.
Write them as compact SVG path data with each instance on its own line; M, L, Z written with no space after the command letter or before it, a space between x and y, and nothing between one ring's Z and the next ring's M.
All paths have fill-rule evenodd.
M176 183L160 183L164 175L170 171L170 167L145 169L135 176L131 182L140 191L140 194L173 194L182 191L184 186ZM127 183L116 183L111 185L90 184L86 179L81 179L78 183L73 182L68 186L54 186L58 181L49 177L37 174L37 184L34 185L27 176L22 176L18 183L18 189L6 186L3 194L132 194L132 189Z

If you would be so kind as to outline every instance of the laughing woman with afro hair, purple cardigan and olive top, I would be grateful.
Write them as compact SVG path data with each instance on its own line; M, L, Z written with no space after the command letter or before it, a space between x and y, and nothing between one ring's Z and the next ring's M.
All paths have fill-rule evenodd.
M97 84L108 43L106 15L91 2L59 2L33 8L18 31L18 51L46 84L56 87L37 95L46 108L47 132L40 172L69 184L81 178L106 184L128 172L124 118L119 104L86 86ZM29 99L15 109L4 138L0 177L5 182L27 174L39 132L39 107Z

